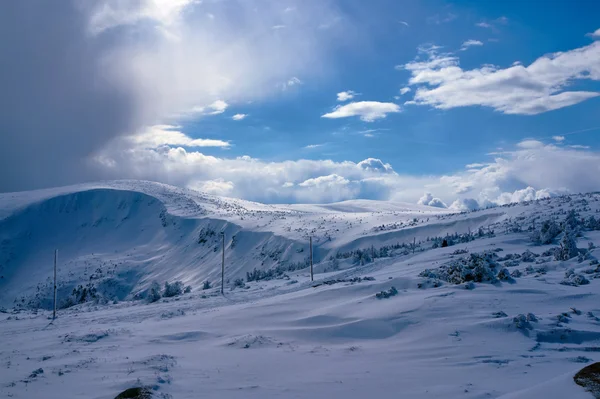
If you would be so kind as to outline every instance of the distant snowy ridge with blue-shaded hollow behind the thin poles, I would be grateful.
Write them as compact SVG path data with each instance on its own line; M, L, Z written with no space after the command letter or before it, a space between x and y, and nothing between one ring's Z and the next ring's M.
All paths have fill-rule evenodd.
M54 249L59 297L91 281L104 296L123 300L154 280L180 280L192 288L217 280L221 232L231 282L254 268L306 264L309 236L319 263L338 249L420 238L431 228L409 229L410 237L374 229L440 213L374 201L263 205L142 181L1 194L0 305L17 299L50 306Z

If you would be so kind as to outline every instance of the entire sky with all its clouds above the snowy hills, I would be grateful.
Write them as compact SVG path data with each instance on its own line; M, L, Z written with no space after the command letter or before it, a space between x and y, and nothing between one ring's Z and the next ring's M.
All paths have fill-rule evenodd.
M457 210L600 190L595 1L0 3L0 192Z

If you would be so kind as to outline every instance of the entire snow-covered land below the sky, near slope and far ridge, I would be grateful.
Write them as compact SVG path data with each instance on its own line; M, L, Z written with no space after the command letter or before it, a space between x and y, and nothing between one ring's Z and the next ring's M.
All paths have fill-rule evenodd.
M0 397L593 398L573 375L600 361L598 210L598 194L451 214L134 181L0 194ZM175 281L191 292L150 301Z

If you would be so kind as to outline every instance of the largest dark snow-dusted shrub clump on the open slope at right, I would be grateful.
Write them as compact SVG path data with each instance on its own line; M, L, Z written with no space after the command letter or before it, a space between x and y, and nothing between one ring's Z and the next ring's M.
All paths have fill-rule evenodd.
M494 254L495 255L495 254ZM440 279L452 284L468 281L476 283L497 281L499 264L491 253L473 253L468 257L452 260L435 269L425 269L419 276Z

